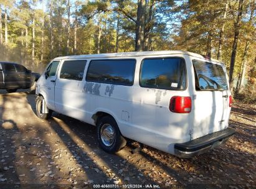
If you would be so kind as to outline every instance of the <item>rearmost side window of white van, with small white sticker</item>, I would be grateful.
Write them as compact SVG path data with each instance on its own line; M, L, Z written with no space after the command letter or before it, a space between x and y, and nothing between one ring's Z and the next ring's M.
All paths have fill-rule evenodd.
M140 86L164 90L186 88L186 65L182 58L147 58L141 63Z

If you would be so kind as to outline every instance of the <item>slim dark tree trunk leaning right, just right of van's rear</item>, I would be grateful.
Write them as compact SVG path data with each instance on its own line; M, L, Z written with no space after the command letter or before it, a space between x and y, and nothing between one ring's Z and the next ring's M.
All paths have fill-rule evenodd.
M238 39L239 39L240 24L241 24L241 19L242 19L243 1L244 0L239 0L239 12L237 15L237 21L234 24L235 34L234 34L234 42L232 45L232 53L231 53L231 58L230 58L230 70L229 70L229 86L230 86L231 92L233 91L233 83L234 83L233 73L234 73L234 68L235 68L235 56L237 54L237 43L238 43Z

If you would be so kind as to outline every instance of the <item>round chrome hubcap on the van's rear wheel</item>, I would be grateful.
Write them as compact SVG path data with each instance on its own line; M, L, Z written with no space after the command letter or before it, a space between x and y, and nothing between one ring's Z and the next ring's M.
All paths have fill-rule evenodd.
M103 124L100 129L100 137L104 145L110 146L115 141L115 131L110 124Z

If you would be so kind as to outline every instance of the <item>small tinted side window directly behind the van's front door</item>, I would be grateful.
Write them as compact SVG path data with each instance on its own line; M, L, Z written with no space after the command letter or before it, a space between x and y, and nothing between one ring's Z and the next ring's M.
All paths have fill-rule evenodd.
M60 70L60 78L82 81L86 60L66 60Z

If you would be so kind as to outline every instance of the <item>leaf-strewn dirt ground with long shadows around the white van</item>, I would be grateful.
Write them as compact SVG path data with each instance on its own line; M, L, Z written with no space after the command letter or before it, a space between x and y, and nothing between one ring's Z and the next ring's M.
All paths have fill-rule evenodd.
M151 147L131 154L136 143L107 154L95 127L57 113L42 121L34 114L35 94L0 93L0 188L256 187L255 105L234 105L230 126L237 134L226 144L179 159Z

